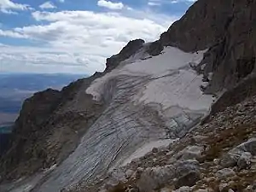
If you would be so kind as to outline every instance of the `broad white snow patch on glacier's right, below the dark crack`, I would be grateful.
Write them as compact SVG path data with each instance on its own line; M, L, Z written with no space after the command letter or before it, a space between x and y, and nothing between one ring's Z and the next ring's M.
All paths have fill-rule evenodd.
M160 103L164 109L172 106L190 110L208 110L212 96L203 95L200 86L201 76L192 70L178 70L177 73L151 81L138 102Z

